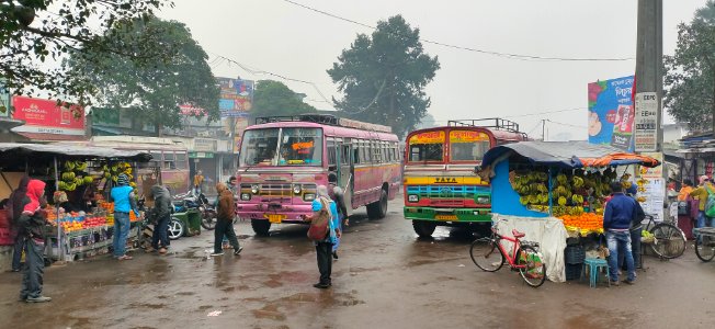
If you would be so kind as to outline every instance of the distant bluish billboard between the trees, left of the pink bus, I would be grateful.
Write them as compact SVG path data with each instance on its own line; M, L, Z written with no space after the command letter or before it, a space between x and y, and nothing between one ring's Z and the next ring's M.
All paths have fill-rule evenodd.
M220 86L218 110L222 117L246 117L253 104L253 81L216 78Z

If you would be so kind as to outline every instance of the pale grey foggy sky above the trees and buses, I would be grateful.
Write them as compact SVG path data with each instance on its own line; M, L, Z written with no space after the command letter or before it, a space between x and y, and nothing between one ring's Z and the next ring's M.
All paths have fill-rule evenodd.
M501 53L548 57L635 58L635 0L542 1L339 1L293 0L367 25L401 14L420 36L441 43ZM340 98L326 70L368 27L322 15L283 0L174 0L159 16L183 22L209 56L231 58L264 70L315 82L330 100ZM690 22L705 0L663 1L663 54L673 53L677 24ZM541 137L586 139L587 83L635 73L635 60L526 61L424 44L441 69L428 86L428 110L438 124L454 118L501 116ZM212 60L215 57L212 57ZM214 75L285 82L320 110L332 104L309 84L250 73L216 60ZM547 111L568 112L526 115ZM671 122L666 118L666 122ZM571 126L567 126L568 124Z

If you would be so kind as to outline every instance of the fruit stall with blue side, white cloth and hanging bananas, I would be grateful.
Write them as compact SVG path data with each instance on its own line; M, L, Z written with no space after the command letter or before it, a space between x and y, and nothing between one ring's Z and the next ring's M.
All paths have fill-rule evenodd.
M659 164L654 158L606 145L521 141L490 149L478 174L491 184L493 218L510 219L500 231L509 229L504 230L509 235L517 228L526 232L525 239L540 242L545 261L560 272L551 273L549 280L563 281L569 276L565 273L566 258L571 261L570 254L564 254L567 240L568 245L601 245L603 207L611 183L620 181L624 188L636 184L643 191L647 182L634 182L628 172L635 166ZM585 257L587 249L592 256L598 252L581 247L577 258Z

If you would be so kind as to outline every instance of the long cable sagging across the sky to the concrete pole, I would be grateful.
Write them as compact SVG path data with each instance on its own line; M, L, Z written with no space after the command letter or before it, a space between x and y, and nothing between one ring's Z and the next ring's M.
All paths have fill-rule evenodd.
M293 5L297 5L304 9L307 9L313 12L317 12L322 15L327 15L337 20L341 20L344 22L349 22L352 24L356 24L363 27L376 30L377 27L373 25L368 25L365 23L361 23L358 21L353 21L350 19L345 19L343 16L339 16L337 14L322 11L319 9L315 9L313 7L308 7L295 1L291 0L283 0L284 2L291 3ZM473 48L473 47L465 47L465 46L457 46L457 45L452 45L447 43L441 43L438 41L432 41L428 38L422 38L421 39L425 44L433 44L442 47L447 47L447 48L454 48L454 49L459 49L459 50L467 50L467 52L473 52L473 53L479 53L479 54L485 54L485 55L491 55L491 56L498 56L498 57L503 57L503 58L510 58L510 59L519 59L519 60L535 60L535 61L626 61L626 60L633 60L635 58L633 57L622 57L622 58L594 58L594 57L583 57L583 58L576 58L576 57L551 57L551 56L536 56L536 55L524 55L524 54L514 54L514 53L502 53L502 52L495 52L495 50L486 50L486 49L479 49L479 48Z

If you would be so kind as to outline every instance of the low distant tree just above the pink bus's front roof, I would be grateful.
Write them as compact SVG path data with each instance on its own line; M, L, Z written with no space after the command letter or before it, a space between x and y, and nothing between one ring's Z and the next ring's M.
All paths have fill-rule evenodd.
M256 93L253 94L253 106L251 107L251 115L253 117L296 115L314 112L316 112L314 106L304 103L303 97L295 93L283 82L273 80L258 81Z

